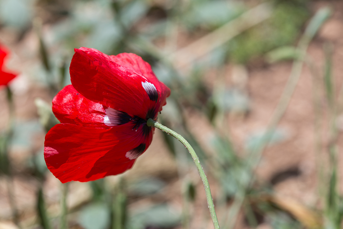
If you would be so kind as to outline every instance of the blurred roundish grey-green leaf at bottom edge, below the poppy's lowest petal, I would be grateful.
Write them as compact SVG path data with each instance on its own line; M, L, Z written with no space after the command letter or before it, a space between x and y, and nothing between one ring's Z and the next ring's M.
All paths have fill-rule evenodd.
M89 204L82 208L78 222L84 229L106 229L110 224L110 210L106 204Z

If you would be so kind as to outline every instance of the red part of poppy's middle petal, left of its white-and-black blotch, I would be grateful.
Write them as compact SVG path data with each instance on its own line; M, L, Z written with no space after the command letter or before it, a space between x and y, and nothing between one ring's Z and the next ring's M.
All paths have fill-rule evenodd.
M110 128L104 124L104 106L86 99L73 85L67 85L57 93L52 100L52 112L61 123Z

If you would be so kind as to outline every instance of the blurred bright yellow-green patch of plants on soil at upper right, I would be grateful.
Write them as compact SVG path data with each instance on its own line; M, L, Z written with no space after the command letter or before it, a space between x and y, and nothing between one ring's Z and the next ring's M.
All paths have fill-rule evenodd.
M228 43L230 59L244 64L277 47L293 45L309 16L304 3L282 1L276 4L267 21Z

